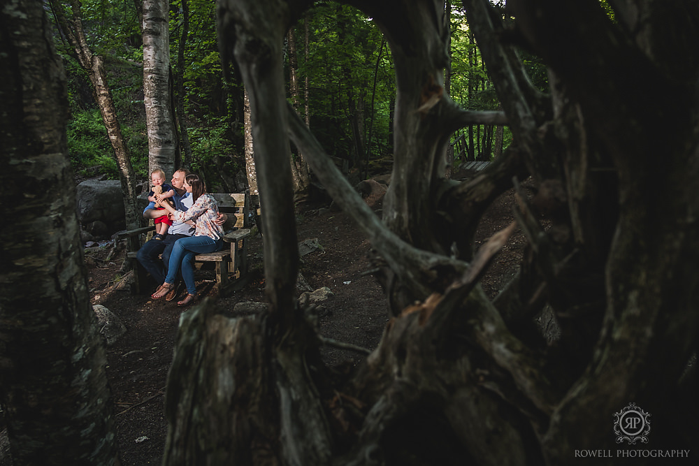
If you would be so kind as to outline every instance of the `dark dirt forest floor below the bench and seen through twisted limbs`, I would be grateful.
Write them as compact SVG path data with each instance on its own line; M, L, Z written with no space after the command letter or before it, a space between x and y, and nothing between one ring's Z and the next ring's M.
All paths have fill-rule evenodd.
M514 192L510 190L489 207L478 229L476 245L510 224L513 203ZM327 286L333 293L320 314L320 331L325 337L374 349L389 315L381 286L365 274L371 268L367 257L370 244L344 212L327 207L308 205L297 214L298 241L317 238L323 247L301 258L301 273L311 289ZM380 203L373 208L380 210ZM524 243L517 231L491 264L482 279L489 296L494 296L514 274ZM107 351L122 465L159 465L167 433L163 412L166 378L180 314L189 308L178 307L176 300L167 303L150 298L155 284L147 294L131 294L118 275L123 252L103 261L106 254L106 250L87 254L86 265L92 304L107 307L127 328L127 333ZM257 235L248 245L251 280L227 298L216 298L213 270L199 270L194 305L204 296L212 296L222 314L234 316L237 303L264 303L262 254L262 238ZM363 359L360 354L329 347L323 349L323 356L329 365L358 365ZM7 456L3 460L0 448L0 466L11 465L7 460Z

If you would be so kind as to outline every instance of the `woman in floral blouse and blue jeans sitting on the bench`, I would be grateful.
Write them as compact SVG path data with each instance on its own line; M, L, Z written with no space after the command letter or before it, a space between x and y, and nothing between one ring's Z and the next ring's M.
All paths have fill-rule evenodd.
M192 204L192 207L189 207L187 212L175 210L166 204L163 207L173 214L174 219L177 221L193 220L196 227L194 236L180 238L175 241L170 254L168 275L165 277L165 282L152 294L152 298L159 299L171 291L175 287L175 278L180 265L182 265L182 279L185 280L185 286L187 286L187 298L178 301L178 306L189 305L194 300L194 296L196 296L194 261L187 260L187 255L192 256L192 253L203 254L220 251L223 249L222 236L224 234L223 227L216 224L216 220L219 217L218 205L212 196L206 194L206 187L199 175L196 175L196 173L187 175L185 177L185 189L192 194L194 199L194 204Z

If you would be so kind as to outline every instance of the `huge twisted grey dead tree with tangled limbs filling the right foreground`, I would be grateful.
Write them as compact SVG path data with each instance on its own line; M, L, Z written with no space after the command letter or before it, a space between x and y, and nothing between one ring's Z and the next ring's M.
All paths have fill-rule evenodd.
M182 326L166 464L585 464L576 452L639 448L613 433L614 414L631 403L652 413L652 449L690 449L696 365L683 371L699 329L696 2L673 1L681 14L670 16L654 14L659 1L610 1L612 22L596 0L513 1L513 33L489 1L465 0L504 110L469 112L443 89L444 2L347 1L384 31L396 68L382 219L284 110L284 31L311 2L277 0L264 10L274 15L259 3L220 1L219 41L250 92L271 226L270 311L226 321L204 305ZM668 34L677 30L686 34ZM514 43L547 61L550 94L531 86ZM508 124L514 142L473 180L451 182L445 146L471 124ZM294 300L287 135L371 241L393 314L377 349L342 381L318 357L312 307ZM517 224L475 249L484 210L513 186ZM479 279L515 228L528 250L490 300ZM552 345L537 328L545 308L560 330ZM202 448L193 422L208 422L217 442Z

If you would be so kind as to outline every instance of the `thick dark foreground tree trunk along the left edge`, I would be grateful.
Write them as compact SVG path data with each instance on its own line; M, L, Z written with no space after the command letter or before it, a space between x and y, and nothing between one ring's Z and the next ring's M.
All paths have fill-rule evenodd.
M13 465L118 465L49 24L41 2L0 10L0 405Z

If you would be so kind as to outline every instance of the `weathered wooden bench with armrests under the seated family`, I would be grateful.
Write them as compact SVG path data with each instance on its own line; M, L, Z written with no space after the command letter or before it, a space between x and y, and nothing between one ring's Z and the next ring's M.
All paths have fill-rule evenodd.
M236 291L247 282L247 238L250 237L250 197L245 193L218 194L211 193L218 204L219 211L227 214L229 220L224 228L236 228L236 230L226 233L223 240L230 244L221 251L208 254L197 254L194 262L215 263L216 283L219 295L227 296L232 291ZM145 234L154 231L155 226L145 226L136 230L125 231L117 235L118 240L126 240L127 257L134 260L134 293L141 293L146 289L146 272L136 260L136 254L143 242Z

